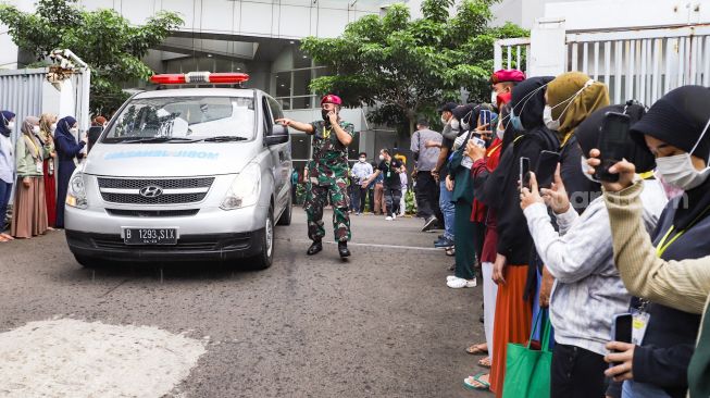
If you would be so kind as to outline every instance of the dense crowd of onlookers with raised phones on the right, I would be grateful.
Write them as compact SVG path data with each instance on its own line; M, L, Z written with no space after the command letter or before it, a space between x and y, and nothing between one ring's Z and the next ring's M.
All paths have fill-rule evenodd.
M552 397L710 397L710 89L611 104L584 73L515 70L491 87L495 104L446 103L441 133L422 119L411 140L447 285L483 283L485 341L466 351L484 370L464 386L539 396L521 393L523 345L549 349L535 377Z

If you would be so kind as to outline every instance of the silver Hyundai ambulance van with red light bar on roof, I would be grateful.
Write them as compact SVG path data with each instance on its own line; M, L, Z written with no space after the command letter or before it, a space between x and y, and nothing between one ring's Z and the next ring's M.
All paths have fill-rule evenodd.
M157 75L161 88L240 84L245 74ZM291 153L276 100L241 88L129 98L71 178L68 247L103 261L233 261L265 269L274 224L290 224Z

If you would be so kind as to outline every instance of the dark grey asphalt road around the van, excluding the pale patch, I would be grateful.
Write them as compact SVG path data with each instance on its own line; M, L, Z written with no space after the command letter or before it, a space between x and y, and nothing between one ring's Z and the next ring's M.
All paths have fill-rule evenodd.
M452 258L409 217L352 216L352 257L341 261L331 216L328 244L307 257L306 216L295 209L292 224L276 228L265 271L87 270L62 232L0 244L0 332L71 319L207 341L169 397L490 396L462 387L468 374L484 371L481 357L464 352L483 340L481 278L476 288L448 288Z

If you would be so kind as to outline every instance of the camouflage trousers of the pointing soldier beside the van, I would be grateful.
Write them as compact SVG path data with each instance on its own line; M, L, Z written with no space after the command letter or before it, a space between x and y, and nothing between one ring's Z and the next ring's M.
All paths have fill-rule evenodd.
M333 206L333 229L335 241L350 240L350 215L348 214L348 183L338 178L331 185L308 184L306 192L306 215L308 237L321 240L325 236L323 208L328 199Z

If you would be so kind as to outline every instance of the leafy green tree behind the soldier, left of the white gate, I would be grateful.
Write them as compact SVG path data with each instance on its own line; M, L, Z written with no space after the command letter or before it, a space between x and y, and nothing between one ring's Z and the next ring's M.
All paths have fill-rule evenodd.
M489 100L494 41L528 35L510 23L489 26L496 1L464 0L450 16L453 0L425 0L419 20L394 4L382 17L348 24L340 37L308 37L301 49L333 73L311 89L335 92L348 107L376 105L368 119L400 133L411 133L418 116L436 121L436 107L462 87L470 101Z

